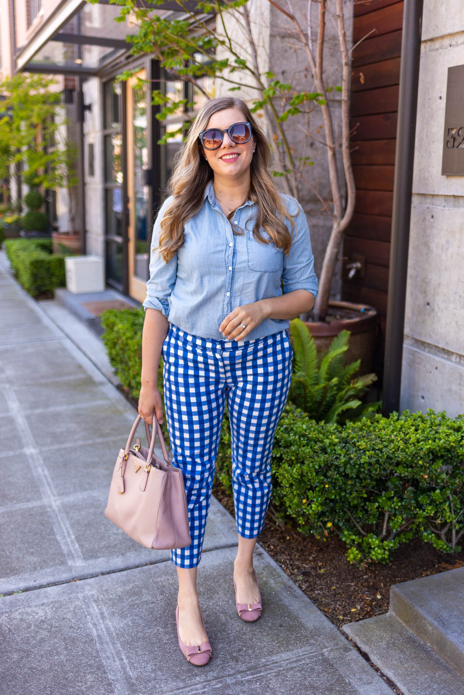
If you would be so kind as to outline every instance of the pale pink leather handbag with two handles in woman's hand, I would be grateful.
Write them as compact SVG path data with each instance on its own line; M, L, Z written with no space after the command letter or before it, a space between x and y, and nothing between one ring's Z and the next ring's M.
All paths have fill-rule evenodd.
M141 448L138 441L131 448L141 421L139 415L126 448L119 452L105 516L145 548L185 548L190 545L191 538L184 477L179 468L170 464L161 427L156 418L153 419L151 438L150 427L145 423L150 449ZM154 455L157 434L164 461Z

